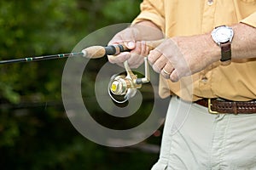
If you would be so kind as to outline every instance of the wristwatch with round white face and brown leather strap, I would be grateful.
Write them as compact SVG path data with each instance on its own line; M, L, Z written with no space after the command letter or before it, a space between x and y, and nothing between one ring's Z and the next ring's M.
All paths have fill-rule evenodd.
M221 63L229 65L231 61L231 42L234 31L229 26L218 26L212 31L212 39L221 48Z

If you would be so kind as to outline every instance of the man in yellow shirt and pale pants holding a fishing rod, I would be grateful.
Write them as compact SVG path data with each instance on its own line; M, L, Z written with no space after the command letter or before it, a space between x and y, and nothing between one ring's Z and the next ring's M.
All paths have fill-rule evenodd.
M144 0L109 42L131 49L110 62L137 67L140 41L165 34L148 54L160 96L172 95L153 169L256 169L255 27L256 0Z

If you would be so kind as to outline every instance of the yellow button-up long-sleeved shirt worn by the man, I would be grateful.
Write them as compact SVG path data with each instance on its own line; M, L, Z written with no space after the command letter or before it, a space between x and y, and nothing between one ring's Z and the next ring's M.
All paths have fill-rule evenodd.
M256 0L144 0L133 23L142 20L154 22L166 37L202 34L239 22L256 27ZM213 63L179 82L160 77L160 96L170 94L187 100L256 99L256 59L236 60L228 66Z

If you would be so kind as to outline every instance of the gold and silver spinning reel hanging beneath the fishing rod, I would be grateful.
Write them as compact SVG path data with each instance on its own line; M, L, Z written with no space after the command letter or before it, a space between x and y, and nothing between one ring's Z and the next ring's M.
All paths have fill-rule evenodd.
M137 89L142 88L143 83L150 81L147 57L144 57L145 77L143 78L138 78L137 75L131 71L127 60L124 62L124 66L126 74L115 74L108 83L109 96L114 102L119 104L125 103L131 99L137 93Z

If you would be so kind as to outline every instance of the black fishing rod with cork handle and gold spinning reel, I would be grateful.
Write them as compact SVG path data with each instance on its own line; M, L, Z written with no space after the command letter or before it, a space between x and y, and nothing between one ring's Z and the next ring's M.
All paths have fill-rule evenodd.
M163 39L158 41L147 41L145 44L150 51L160 45L161 42L163 42ZM66 57L85 57L89 59L97 59L106 55L120 54L125 51L130 51L130 49L126 48L123 44L114 44L107 47L91 46L89 48L84 48L81 52L78 53L54 54L38 57L27 57L23 59L8 59L2 61L0 60L0 65ZM144 57L145 77L143 78L138 78L137 75L131 71L127 61L124 62L124 67L126 74L115 74L113 77L111 77L110 82L108 83L108 94L111 99L117 103L125 103L125 101L131 99L131 97L137 93L138 88L142 88L143 83L150 81L147 57ZM116 96L118 96L118 98L116 98ZM121 96L121 99L119 96Z

